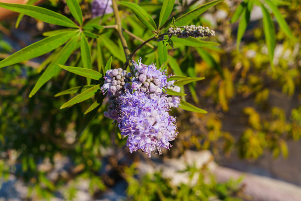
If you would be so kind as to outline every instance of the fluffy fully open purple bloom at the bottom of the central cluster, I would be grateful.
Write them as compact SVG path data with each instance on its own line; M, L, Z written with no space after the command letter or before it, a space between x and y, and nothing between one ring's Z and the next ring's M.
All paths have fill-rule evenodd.
M176 118L169 115L170 106L165 95L149 99L148 93L125 92L120 96L121 136L127 138L130 152L141 149L151 157L151 152L169 149L176 132Z

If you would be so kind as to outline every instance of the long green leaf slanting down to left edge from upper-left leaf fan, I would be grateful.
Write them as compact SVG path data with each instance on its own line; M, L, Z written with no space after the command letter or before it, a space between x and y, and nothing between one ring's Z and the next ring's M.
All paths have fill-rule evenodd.
M63 32L57 35L44 38L0 61L0 67L10 66L13 64L23 62L25 60L41 56L47 52L50 52L60 47L62 44L64 44L66 41L72 38L75 34L77 34L77 32Z

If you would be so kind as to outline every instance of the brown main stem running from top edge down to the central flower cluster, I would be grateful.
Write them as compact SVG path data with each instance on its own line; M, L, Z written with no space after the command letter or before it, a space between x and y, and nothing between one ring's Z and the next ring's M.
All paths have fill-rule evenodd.
M118 32L118 35L119 35L119 38L120 38L120 41L121 41L121 44L122 44L122 47L124 50L124 54L125 54L125 58L126 58L126 66L127 66L129 64L128 56L131 53L127 47L126 40L122 33L121 20L120 20L119 10L118 10L118 5L116 3L116 0L112 0L112 5L113 5L113 10L114 10L114 15L115 15L115 24L117 25L117 32Z

